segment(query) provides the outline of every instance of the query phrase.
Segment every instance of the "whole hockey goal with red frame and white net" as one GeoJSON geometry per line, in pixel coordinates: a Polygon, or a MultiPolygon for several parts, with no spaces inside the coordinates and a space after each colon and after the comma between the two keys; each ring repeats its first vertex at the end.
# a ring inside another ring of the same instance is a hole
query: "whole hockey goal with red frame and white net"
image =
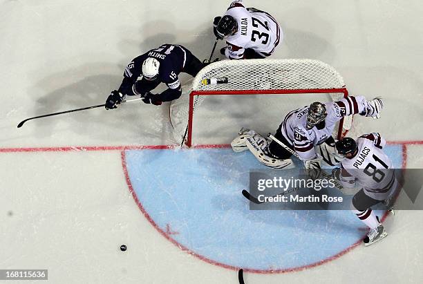
{"type": "MultiPolygon", "coordinates": [[[[318,60],[224,60],[200,70],[192,82],[189,95],[182,94],[180,99],[172,102],[170,119],[174,136],[180,141],[185,136],[187,146],[191,146],[196,131],[209,129],[211,133],[209,131],[207,135],[212,136],[229,124],[237,124],[231,116],[241,116],[244,122],[245,117],[255,117],[255,122],[276,120],[272,121],[274,132],[289,111],[312,102],[336,101],[346,96],[348,91],[341,75],[332,66],[318,60]],[[254,100],[251,100],[252,97],[254,100]],[[252,105],[256,106],[254,111],[251,111],[252,105]],[[234,115],[234,111],[238,115],[234,115]],[[203,117],[199,125],[194,124],[200,114],[207,112],[208,118],[203,117]],[[271,119],[272,113],[274,118],[271,119]],[[215,133],[211,128],[214,121],[220,123],[215,133]]],[[[334,130],[335,138],[345,135],[351,124],[352,117],[341,120],[334,130]]],[[[232,138],[233,135],[228,138],[229,141],[232,138]]]]}

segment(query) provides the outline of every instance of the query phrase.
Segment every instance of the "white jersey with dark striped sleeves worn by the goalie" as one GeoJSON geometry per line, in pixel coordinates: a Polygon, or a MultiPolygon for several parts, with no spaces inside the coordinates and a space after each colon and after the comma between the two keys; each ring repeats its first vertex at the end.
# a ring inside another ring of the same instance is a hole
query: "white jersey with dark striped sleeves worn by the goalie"
{"type": "Polygon", "coordinates": [[[309,106],[291,111],[281,124],[282,135],[294,146],[294,150],[303,160],[317,158],[314,146],[330,138],[335,125],[342,117],[357,113],[366,115],[367,101],[363,96],[350,96],[337,102],[324,104],[328,115],[325,122],[321,123],[323,125],[318,124],[310,130],[306,128],[309,106]]]}

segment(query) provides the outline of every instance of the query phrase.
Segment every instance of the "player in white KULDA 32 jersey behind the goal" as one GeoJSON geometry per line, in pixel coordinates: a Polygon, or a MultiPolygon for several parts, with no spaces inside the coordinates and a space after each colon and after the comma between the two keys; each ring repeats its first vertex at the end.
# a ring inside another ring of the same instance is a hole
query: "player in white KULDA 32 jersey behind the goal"
{"type": "Polygon", "coordinates": [[[233,1],[213,24],[216,38],[225,39],[227,44],[220,53],[229,59],[268,57],[283,38],[274,17],[256,8],[245,8],[241,0],[233,1]]]}

